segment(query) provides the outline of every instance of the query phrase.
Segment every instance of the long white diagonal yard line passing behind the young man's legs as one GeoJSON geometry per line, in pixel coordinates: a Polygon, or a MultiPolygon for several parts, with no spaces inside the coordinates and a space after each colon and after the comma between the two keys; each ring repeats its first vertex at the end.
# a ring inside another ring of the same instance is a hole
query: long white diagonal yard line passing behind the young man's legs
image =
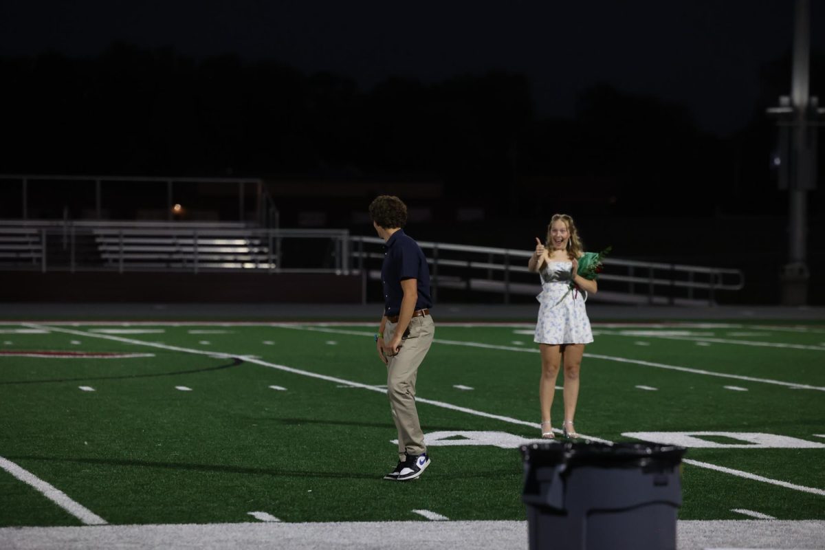
{"type": "MultiPolygon", "coordinates": [[[[34,328],[48,328],[48,327],[41,327],[41,326],[37,326],[37,325],[31,325],[31,327],[34,327],[34,328]]],[[[241,359],[241,360],[246,360],[250,363],[260,364],[262,366],[269,367],[271,369],[279,369],[279,370],[283,370],[283,371],[288,372],[288,373],[301,374],[303,376],[309,376],[310,378],[318,378],[320,380],[327,380],[328,382],[347,384],[348,386],[352,386],[353,388],[364,388],[364,389],[368,389],[368,390],[373,391],[373,392],[386,393],[386,388],[380,388],[380,387],[377,387],[377,386],[370,386],[369,384],[360,383],[360,382],[352,382],[351,380],[345,380],[343,378],[336,378],[336,377],[333,377],[333,376],[327,376],[326,374],[313,373],[313,372],[309,372],[307,370],[294,369],[292,367],[287,367],[287,366],[282,365],[282,364],[268,363],[264,360],[254,359],[252,357],[247,357],[245,355],[219,354],[219,353],[216,353],[214,351],[192,350],[192,349],[189,349],[189,348],[181,348],[181,347],[178,347],[178,346],[167,346],[166,344],[157,344],[157,343],[154,343],[154,342],[144,342],[144,341],[139,341],[139,340],[131,340],[130,338],[122,338],[120,336],[108,336],[108,335],[103,335],[103,334],[97,335],[97,334],[91,334],[91,333],[86,333],[86,332],[81,332],[81,331],[73,331],[72,329],[68,329],[68,328],[53,328],[52,330],[75,333],[75,334],[79,333],[79,334],[82,334],[84,336],[94,336],[94,337],[97,337],[97,338],[104,338],[104,339],[108,339],[108,340],[124,341],[126,343],[137,344],[139,346],[152,346],[152,347],[161,348],[163,350],[176,350],[176,351],[181,351],[181,352],[184,352],[184,353],[191,353],[191,354],[196,354],[196,355],[222,356],[222,357],[226,357],[227,359],[229,359],[229,358],[238,358],[238,359],[241,359]]],[[[356,335],[357,336],[372,336],[372,334],[368,334],[368,333],[364,333],[364,332],[356,332],[356,335]]],[[[519,350],[519,351],[525,351],[521,348],[513,348],[513,349],[519,350]]],[[[538,350],[535,350],[535,351],[536,351],[536,353],[538,352],[538,350]]],[[[585,354],[585,355],[587,355],[587,354],[585,354]]],[[[608,359],[615,359],[615,358],[608,358],[608,359]]],[[[757,380],[757,381],[760,381],[760,380],[757,380]]],[[[825,389],[825,388],[823,388],[823,389],[825,389]]],[[[518,420],[516,418],[510,418],[509,416],[500,416],[500,415],[493,415],[493,414],[490,414],[488,412],[483,412],[483,411],[474,411],[473,409],[469,409],[467,407],[458,407],[458,406],[452,405],[450,403],[432,401],[430,399],[424,399],[422,397],[416,397],[416,401],[417,402],[422,402],[422,403],[427,403],[428,405],[434,405],[436,407],[442,407],[442,408],[450,409],[451,411],[466,412],[467,414],[474,415],[474,416],[482,416],[483,418],[491,418],[493,420],[507,422],[509,424],[526,425],[526,426],[530,426],[531,428],[534,428],[534,429],[535,428],[541,429],[540,424],[536,424],[535,422],[521,421],[521,420],[518,420]]],[[[554,431],[560,431],[560,430],[554,428],[554,431]]],[[[602,440],[601,438],[590,437],[590,436],[583,435],[583,434],[582,434],[582,437],[584,437],[584,439],[587,439],[587,440],[599,441],[601,443],[609,443],[609,444],[613,443],[610,440],[602,440]]],[[[699,462],[697,460],[683,459],[682,462],[691,464],[693,466],[697,466],[699,468],[709,468],[711,470],[716,470],[718,472],[728,473],[728,474],[731,474],[733,476],[745,477],[746,479],[750,479],[750,480],[753,480],[753,481],[771,483],[773,485],[778,485],[780,487],[786,487],[786,488],[789,488],[789,489],[794,489],[796,491],[804,491],[804,492],[813,493],[814,495],[825,496],[825,491],[823,491],[822,489],[817,489],[817,488],[813,488],[813,487],[804,487],[804,486],[801,486],[801,485],[794,485],[793,483],[782,482],[782,481],[778,481],[778,480],[775,480],[775,479],[770,479],[769,477],[761,477],[761,476],[757,476],[756,474],[752,474],[752,473],[748,473],[748,472],[742,472],[741,470],[734,470],[732,468],[724,468],[724,466],[716,466],[715,464],[703,463],[703,462],[699,462]]]]}

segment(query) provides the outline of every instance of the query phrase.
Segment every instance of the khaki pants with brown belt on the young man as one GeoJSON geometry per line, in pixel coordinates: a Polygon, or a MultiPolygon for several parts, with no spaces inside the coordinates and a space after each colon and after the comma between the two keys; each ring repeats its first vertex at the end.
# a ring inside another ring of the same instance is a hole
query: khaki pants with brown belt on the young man
{"type": "MultiPolygon", "coordinates": [[[[393,339],[396,326],[395,323],[387,322],[384,341],[393,339]]],[[[398,430],[398,460],[402,462],[408,454],[415,456],[427,452],[415,407],[415,381],[418,365],[430,350],[435,333],[436,326],[432,317],[413,317],[410,319],[408,336],[401,341],[401,350],[398,355],[390,357],[387,364],[387,396],[398,430]]]]}

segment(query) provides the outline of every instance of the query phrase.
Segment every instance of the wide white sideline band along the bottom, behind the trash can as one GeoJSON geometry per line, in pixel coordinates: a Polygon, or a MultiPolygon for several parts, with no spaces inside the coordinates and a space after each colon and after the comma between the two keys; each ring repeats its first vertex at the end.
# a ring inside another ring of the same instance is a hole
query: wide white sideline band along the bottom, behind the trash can
{"type": "MultiPolygon", "coordinates": [[[[135,548],[395,548],[384,541],[403,540],[403,548],[427,550],[501,550],[527,548],[526,520],[355,522],[238,522],[217,524],[98,525],[95,527],[3,527],[7,548],[106,550],[135,548]]],[[[822,548],[823,520],[757,521],[755,519],[685,520],[676,522],[681,550],[756,550],[822,548]]]]}

